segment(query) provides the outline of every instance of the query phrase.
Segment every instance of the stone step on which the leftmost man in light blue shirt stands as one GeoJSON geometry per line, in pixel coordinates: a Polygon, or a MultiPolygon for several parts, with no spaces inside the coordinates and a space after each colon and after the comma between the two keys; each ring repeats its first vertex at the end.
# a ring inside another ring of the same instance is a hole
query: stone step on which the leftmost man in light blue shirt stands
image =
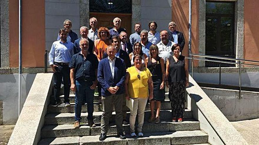
{"type": "MultiPolygon", "coordinates": [[[[75,103],[70,103],[70,106],[65,106],[65,104],[61,104],[57,107],[53,107],[52,105],[48,106],[48,113],[74,113],[75,103]]],[[[170,110],[171,104],[169,100],[165,100],[161,103],[161,110],[170,110]]],[[[114,109],[113,109],[114,110],[114,109]]],[[[147,103],[146,109],[150,110],[150,103],[147,103]]],[[[102,111],[102,104],[94,103],[94,112],[102,111]]],[[[127,111],[129,111],[129,108],[127,108],[127,111]]],[[[87,112],[87,105],[82,105],[82,111],[81,112],[87,112]]]]}

